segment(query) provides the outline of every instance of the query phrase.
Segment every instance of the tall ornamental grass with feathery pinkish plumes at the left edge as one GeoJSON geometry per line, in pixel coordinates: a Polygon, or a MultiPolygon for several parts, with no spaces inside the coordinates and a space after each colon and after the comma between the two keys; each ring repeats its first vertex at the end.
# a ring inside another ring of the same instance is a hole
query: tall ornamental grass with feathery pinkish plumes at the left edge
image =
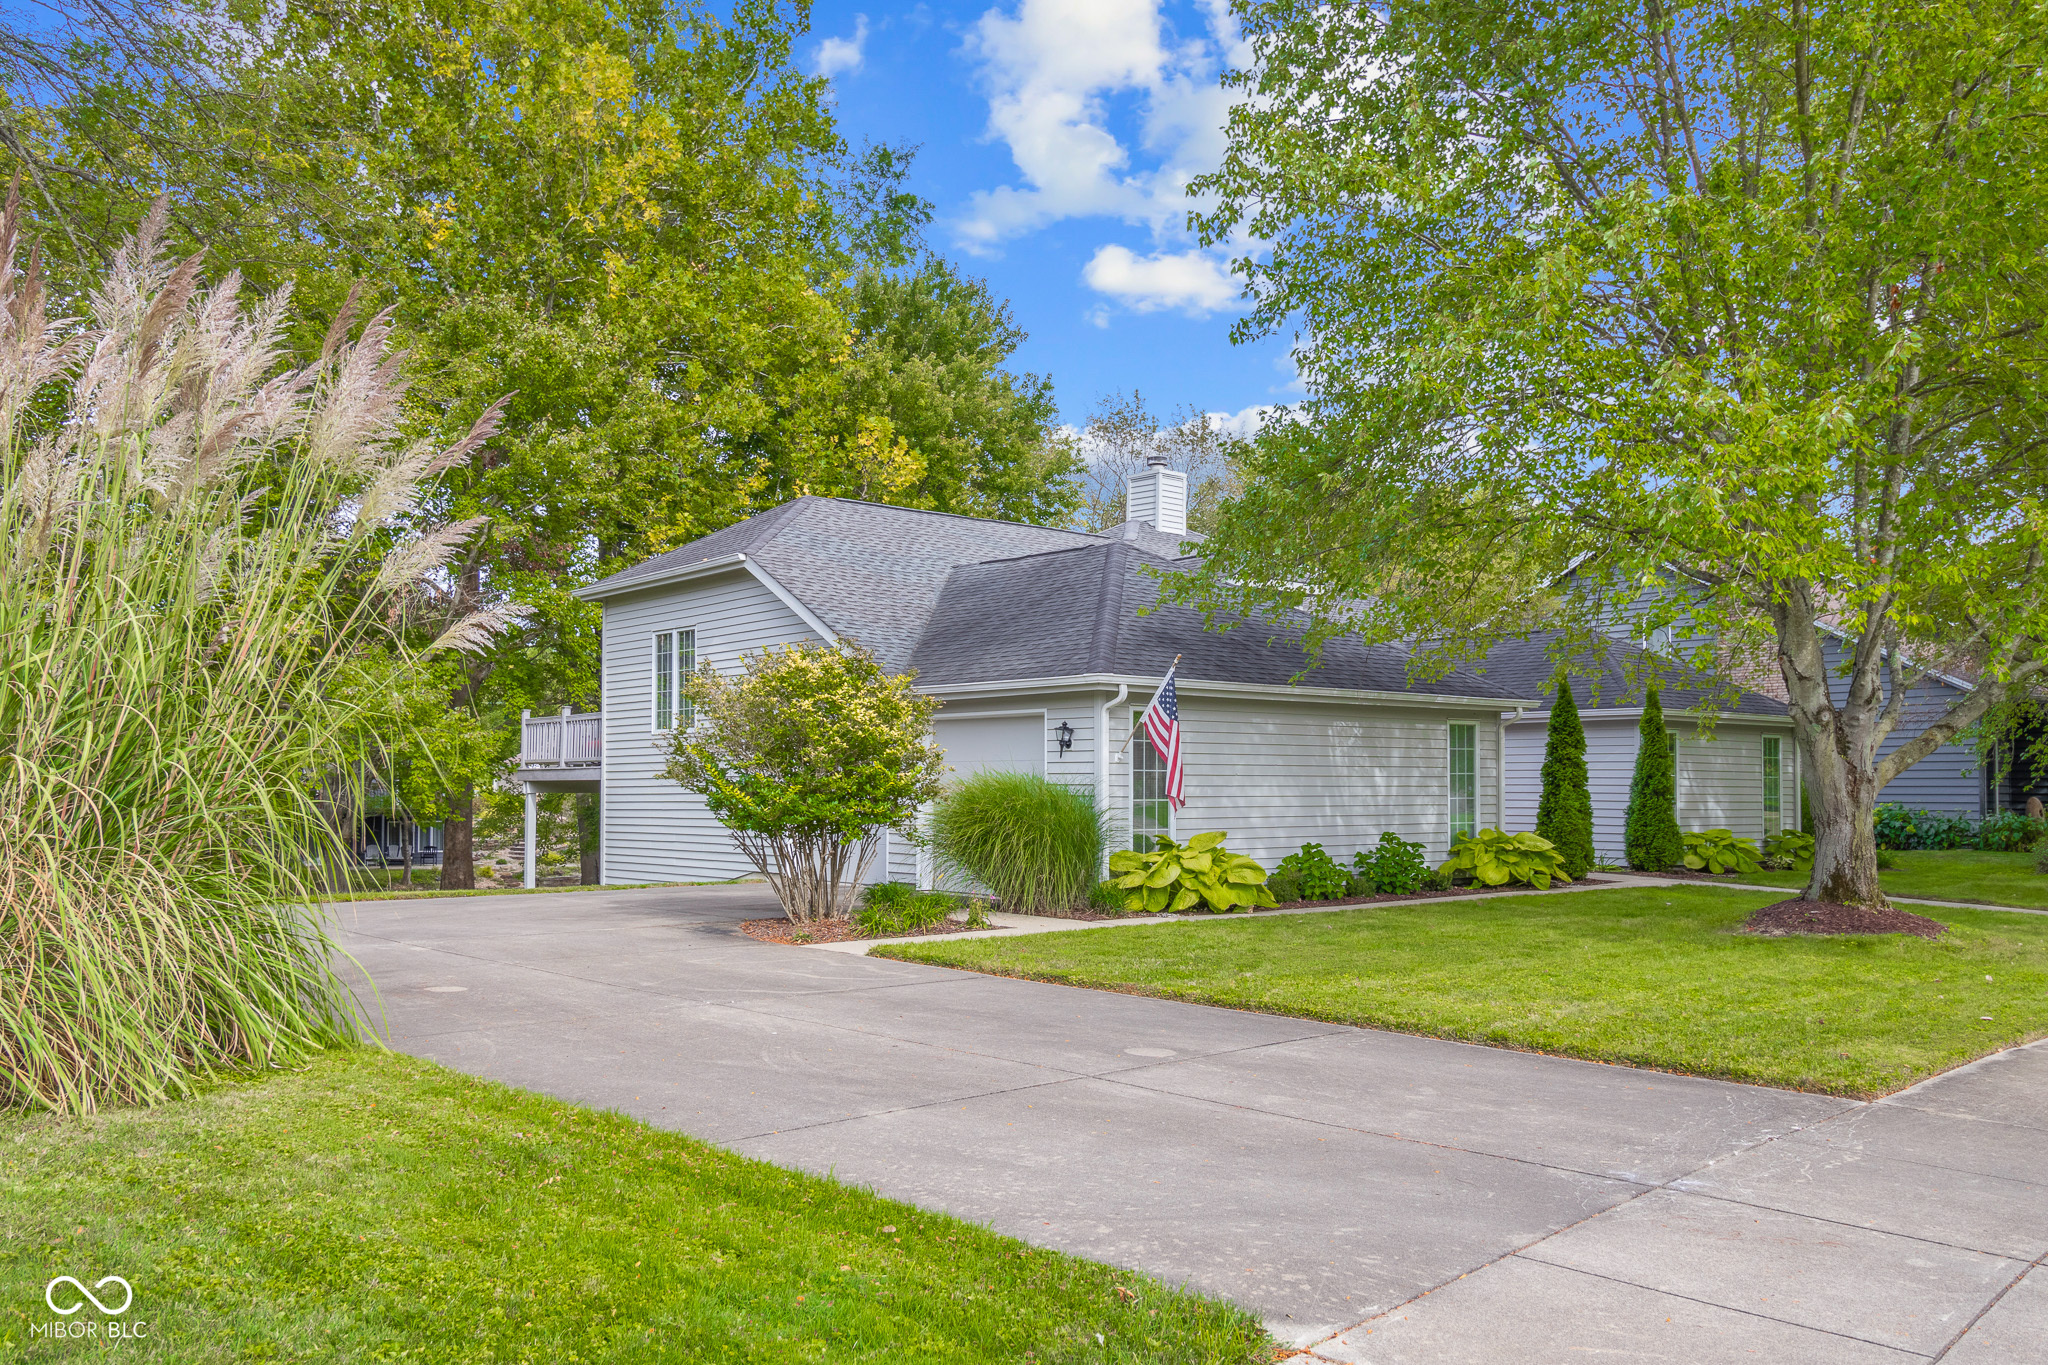
{"type": "Polygon", "coordinates": [[[442,546],[399,520],[496,420],[401,442],[383,315],[281,368],[287,301],[203,289],[162,223],[61,323],[0,217],[0,1107],[352,1033],[317,909],[367,724],[338,681],[418,663],[391,612],[442,546]]]}

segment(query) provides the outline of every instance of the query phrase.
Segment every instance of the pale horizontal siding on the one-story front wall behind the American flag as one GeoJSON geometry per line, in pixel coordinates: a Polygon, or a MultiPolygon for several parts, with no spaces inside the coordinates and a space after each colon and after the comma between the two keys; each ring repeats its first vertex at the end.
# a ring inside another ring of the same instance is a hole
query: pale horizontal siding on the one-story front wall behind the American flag
{"type": "MultiPolygon", "coordinates": [[[[1110,716],[1110,743],[1130,733],[1135,696],[1110,716]]],[[[1477,729],[1479,825],[1499,825],[1499,724],[1487,712],[1389,704],[1225,700],[1180,694],[1188,804],[1180,837],[1229,831],[1229,847],[1268,868],[1303,843],[1337,862],[1382,831],[1419,839],[1430,857],[1450,849],[1450,722],[1477,729]]],[[[1139,737],[1135,743],[1145,743],[1139,737]]],[[[1128,819],[1130,761],[1112,763],[1118,812],[1128,819]]]]}

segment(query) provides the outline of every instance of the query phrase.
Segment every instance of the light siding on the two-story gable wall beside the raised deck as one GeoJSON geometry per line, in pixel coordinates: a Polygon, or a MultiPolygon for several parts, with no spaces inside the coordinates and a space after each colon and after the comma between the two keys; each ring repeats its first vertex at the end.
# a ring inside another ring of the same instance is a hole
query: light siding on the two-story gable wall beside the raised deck
{"type": "Polygon", "coordinates": [[[735,569],[604,604],[604,831],[606,884],[709,882],[752,876],[702,798],[662,776],[666,735],[653,733],[653,632],[696,630],[696,659],[737,669],[745,653],[817,641],[817,632],[762,583],[735,569]]]}

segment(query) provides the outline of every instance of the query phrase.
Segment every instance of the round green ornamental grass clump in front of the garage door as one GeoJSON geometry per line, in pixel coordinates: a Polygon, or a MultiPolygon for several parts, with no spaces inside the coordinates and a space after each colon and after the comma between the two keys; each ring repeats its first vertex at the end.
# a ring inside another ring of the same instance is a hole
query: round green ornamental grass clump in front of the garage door
{"type": "Polygon", "coordinates": [[[932,810],[932,851],[948,876],[985,886],[1018,915],[1063,915],[1087,902],[1114,839],[1094,792],[1038,774],[979,772],[932,810]]]}

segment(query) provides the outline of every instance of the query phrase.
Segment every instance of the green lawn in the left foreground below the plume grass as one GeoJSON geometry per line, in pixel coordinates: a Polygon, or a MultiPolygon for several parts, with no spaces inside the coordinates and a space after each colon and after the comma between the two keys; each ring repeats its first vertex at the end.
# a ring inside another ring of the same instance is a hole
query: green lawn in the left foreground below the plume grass
{"type": "Polygon", "coordinates": [[[0,1117],[0,1306],[4,1359],[1272,1353],[1249,1314],[1143,1275],[375,1052],[160,1109],[0,1117]],[[121,1322],[147,1336],[31,1336],[55,1275],[125,1277],[121,1322]]]}

